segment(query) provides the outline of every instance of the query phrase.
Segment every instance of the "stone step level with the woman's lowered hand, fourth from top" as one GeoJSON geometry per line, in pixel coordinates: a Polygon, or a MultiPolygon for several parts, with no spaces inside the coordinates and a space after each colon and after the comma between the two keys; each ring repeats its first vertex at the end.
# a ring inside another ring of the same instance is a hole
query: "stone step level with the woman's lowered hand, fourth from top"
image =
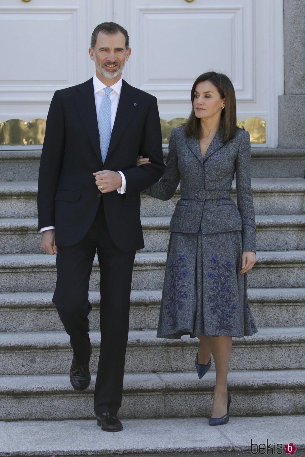
{"type": "MultiPolygon", "coordinates": [[[[134,262],[132,289],[163,287],[165,252],[139,252],[134,262]]],[[[1,292],[54,291],[56,256],[47,254],[0,255],[1,292]]],[[[90,290],[99,290],[97,258],[93,262],[90,290]]],[[[304,287],[305,251],[258,251],[257,264],[248,273],[248,287],[304,287]]]]}

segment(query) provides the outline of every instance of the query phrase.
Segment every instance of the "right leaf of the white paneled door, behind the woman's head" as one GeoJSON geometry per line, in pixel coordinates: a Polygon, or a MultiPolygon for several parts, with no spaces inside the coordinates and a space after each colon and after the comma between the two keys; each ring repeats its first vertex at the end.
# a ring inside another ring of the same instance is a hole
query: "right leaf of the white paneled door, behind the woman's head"
{"type": "Polygon", "coordinates": [[[233,82],[238,118],[264,119],[264,146],[277,145],[282,0],[113,0],[113,8],[130,35],[126,77],[157,97],[161,118],[187,117],[194,80],[215,70],[233,82]]]}

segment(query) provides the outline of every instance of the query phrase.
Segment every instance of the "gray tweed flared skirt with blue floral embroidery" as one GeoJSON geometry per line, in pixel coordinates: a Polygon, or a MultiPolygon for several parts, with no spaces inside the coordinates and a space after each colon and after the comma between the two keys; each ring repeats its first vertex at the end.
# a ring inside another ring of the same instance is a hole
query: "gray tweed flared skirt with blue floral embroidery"
{"type": "Polygon", "coordinates": [[[157,337],[251,336],[241,232],[171,233],[157,337]]]}

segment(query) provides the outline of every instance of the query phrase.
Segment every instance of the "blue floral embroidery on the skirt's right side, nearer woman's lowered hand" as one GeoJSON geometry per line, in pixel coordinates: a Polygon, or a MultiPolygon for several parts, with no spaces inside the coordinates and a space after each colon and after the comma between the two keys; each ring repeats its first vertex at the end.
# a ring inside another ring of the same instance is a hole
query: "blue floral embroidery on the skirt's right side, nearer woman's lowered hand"
{"type": "Polygon", "coordinates": [[[230,260],[220,263],[218,256],[211,259],[212,266],[209,272],[209,279],[213,281],[212,293],[209,294],[209,303],[213,303],[211,311],[217,315],[216,330],[233,330],[230,319],[233,318],[236,303],[233,303],[235,294],[231,290],[229,278],[233,271],[230,260]]]}

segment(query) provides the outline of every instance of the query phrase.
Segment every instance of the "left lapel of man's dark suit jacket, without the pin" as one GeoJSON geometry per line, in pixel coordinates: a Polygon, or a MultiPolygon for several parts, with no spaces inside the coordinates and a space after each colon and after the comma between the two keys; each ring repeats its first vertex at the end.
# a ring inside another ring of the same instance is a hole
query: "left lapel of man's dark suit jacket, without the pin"
{"type": "Polygon", "coordinates": [[[78,94],[75,94],[74,99],[77,111],[79,112],[81,121],[84,124],[94,152],[102,164],[100,135],[97,125],[92,78],[91,80],[86,81],[84,84],[79,85],[79,92],[78,94]]]}

